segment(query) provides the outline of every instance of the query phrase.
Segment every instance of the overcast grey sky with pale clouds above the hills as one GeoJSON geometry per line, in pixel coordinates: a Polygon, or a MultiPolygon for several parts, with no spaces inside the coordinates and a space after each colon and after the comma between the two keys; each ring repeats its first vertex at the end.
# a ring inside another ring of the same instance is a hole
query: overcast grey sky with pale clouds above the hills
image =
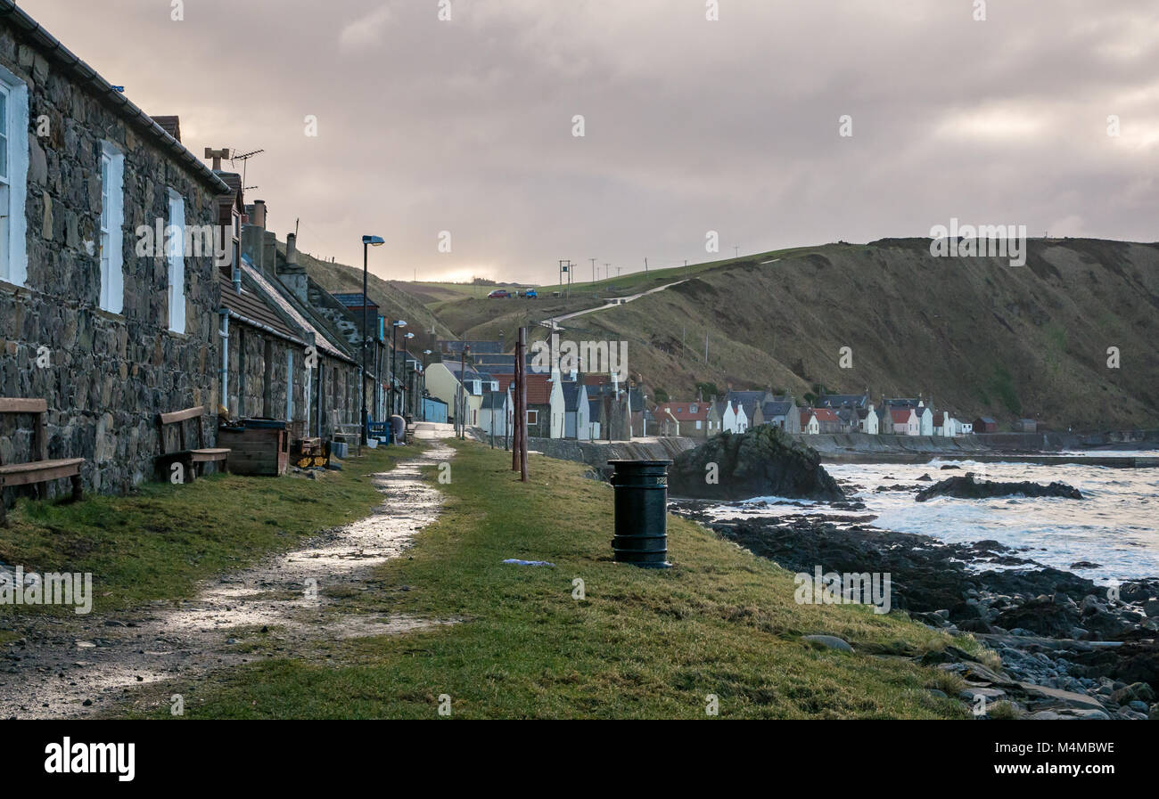
{"type": "Polygon", "coordinates": [[[176,2],[20,5],[196,154],[264,148],[247,201],[279,237],[300,217],[304,250],[360,265],[381,235],[387,278],[586,280],[714,259],[709,230],[731,257],[952,217],[1159,240],[1150,2],[176,2]]]}

